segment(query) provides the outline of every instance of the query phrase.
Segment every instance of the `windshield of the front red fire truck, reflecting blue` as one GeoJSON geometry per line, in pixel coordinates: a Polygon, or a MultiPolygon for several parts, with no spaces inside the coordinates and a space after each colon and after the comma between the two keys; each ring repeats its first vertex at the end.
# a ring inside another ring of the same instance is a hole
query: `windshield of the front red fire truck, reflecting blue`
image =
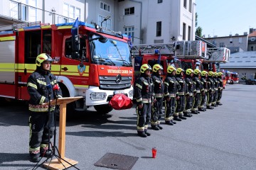
{"type": "Polygon", "coordinates": [[[98,35],[92,35],[90,47],[92,51],[92,62],[95,64],[132,66],[129,45],[126,42],[108,38],[104,42],[98,35]]]}

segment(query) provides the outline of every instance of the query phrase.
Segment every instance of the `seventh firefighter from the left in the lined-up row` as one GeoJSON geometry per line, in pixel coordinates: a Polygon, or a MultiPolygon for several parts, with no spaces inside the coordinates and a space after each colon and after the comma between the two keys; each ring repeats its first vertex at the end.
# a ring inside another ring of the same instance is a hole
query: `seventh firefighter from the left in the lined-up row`
{"type": "Polygon", "coordinates": [[[207,79],[208,77],[208,72],[206,71],[202,71],[201,72],[201,86],[202,86],[202,89],[201,89],[201,102],[199,103],[199,106],[198,106],[198,110],[199,111],[206,111],[206,108],[204,108],[203,106],[206,104],[206,96],[207,96],[207,79]]]}

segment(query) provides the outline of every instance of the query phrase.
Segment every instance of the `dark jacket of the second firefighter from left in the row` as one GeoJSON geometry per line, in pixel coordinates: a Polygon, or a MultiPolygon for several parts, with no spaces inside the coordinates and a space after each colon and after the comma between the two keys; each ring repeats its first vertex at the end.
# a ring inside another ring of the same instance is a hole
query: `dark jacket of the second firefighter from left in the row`
{"type": "Polygon", "coordinates": [[[154,84],[154,98],[164,97],[164,83],[161,76],[158,74],[152,74],[152,81],[154,84]]]}

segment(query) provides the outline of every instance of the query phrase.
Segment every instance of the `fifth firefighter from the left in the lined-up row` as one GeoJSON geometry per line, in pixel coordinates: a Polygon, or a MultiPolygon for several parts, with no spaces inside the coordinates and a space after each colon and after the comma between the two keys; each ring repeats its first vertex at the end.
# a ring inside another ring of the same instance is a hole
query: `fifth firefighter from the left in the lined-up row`
{"type": "MultiPolygon", "coordinates": [[[[186,111],[191,111],[192,109],[192,102],[193,102],[193,95],[194,95],[194,86],[193,86],[193,69],[186,69],[186,86],[188,89],[188,94],[186,94],[186,111]]],[[[192,112],[191,112],[192,113],[192,112]]],[[[197,112],[194,112],[197,114],[197,112]]]]}

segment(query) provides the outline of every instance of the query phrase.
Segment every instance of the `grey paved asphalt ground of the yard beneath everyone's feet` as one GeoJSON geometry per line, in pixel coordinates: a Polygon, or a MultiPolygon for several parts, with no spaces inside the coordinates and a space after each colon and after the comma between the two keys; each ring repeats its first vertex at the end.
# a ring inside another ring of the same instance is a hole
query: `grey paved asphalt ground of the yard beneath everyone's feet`
{"type": "MultiPolygon", "coordinates": [[[[137,137],[134,108],[108,115],[90,109],[67,122],[65,157],[78,161],[78,169],[106,169],[94,166],[106,153],[139,157],[134,170],[256,169],[255,95],[256,86],[228,84],[223,106],[163,125],[164,130],[149,130],[146,138],[137,137]],[[151,158],[152,147],[156,159],[151,158]]],[[[0,169],[33,169],[26,105],[0,106],[0,136],[0,169]]]]}

